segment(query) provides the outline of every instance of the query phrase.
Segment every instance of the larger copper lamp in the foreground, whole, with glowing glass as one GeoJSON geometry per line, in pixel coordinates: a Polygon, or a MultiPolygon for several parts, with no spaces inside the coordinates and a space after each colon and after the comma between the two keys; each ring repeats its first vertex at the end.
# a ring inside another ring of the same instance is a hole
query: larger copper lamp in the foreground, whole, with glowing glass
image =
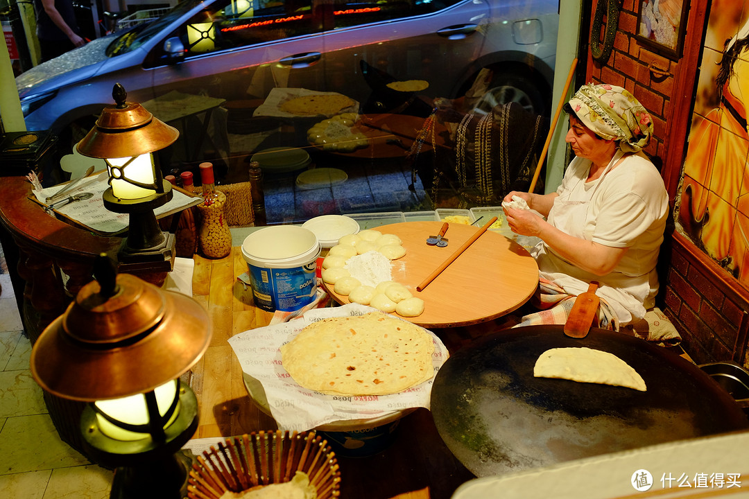
{"type": "Polygon", "coordinates": [[[106,255],[40,335],[31,373],[51,394],[88,402],[81,431],[87,455],[115,468],[111,498],[180,498],[189,459],[179,450],[198,426],[195,394],[179,377],[210,343],[205,310],[115,271],[106,255]]]}

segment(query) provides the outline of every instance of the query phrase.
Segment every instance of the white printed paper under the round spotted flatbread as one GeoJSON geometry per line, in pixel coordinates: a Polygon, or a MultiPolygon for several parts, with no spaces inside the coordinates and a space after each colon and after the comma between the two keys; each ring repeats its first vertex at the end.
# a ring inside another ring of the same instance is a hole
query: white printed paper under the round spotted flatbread
{"type": "MultiPolygon", "coordinates": [[[[291,322],[251,329],[228,340],[243,372],[263,386],[270,413],[280,429],[303,432],[334,421],[371,419],[407,408],[429,408],[434,379],[399,394],[333,396],[302,388],[281,365],[281,346],[291,341],[306,325],[328,317],[356,316],[369,312],[382,313],[357,303],[317,308],[291,322]]],[[[432,365],[434,373],[437,373],[449,354],[440,338],[431,331],[425,331],[434,340],[432,365]]]]}

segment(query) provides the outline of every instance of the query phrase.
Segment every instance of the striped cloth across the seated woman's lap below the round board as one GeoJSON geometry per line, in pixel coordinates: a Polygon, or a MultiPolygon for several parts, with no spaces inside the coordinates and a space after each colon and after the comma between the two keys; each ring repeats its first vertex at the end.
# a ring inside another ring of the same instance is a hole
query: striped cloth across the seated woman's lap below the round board
{"type": "MultiPolygon", "coordinates": [[[[576,298],[576,295],[566,293],[553,281],[540,278],[539,287],[531,299],[531,304],[539,311],[522,316],[520,322],[512,327],[564,324],[567,322],[567,317],[576,298]]],[[[619,331],[619,319],[616,318],[616,314],[603,299],[601,299],[601,304],[598,305],[598,325],[596,327],[619,331]]]]}

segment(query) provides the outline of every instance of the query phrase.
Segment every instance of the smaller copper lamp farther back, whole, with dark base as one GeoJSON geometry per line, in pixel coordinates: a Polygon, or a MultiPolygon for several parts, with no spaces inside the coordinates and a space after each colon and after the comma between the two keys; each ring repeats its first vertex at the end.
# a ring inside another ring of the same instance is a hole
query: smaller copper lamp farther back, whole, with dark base
{"type": "Polygon", "coordinates": [[[111,186],[104,192],[104,206],[130,214],[118,260],[126,264],[168,261],[171,269],[175,236],[160,229],[154,208],[172,199],[172,184],[163,179],[152,153],[173,144],[179,132],[142,105],[127,102],[127,93],[119,83],[112,89],[112,98],[115,105],[103,109],[76,150],[83,156],[104,159],[111,186]]]}

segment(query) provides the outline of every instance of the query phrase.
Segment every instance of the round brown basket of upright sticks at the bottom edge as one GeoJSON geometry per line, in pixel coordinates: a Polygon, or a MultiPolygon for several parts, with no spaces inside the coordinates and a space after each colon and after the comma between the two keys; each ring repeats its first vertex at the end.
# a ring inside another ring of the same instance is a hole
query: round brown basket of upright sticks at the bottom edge
{"type": "Polygon", "coordinates": [[[219,442],[192,465],[187,497],[219,499],[224,492],[285,483],[304,471],[318,499],[340,497],[341,474],[336,454],[315,431],[253,432],[219,442]]]}

